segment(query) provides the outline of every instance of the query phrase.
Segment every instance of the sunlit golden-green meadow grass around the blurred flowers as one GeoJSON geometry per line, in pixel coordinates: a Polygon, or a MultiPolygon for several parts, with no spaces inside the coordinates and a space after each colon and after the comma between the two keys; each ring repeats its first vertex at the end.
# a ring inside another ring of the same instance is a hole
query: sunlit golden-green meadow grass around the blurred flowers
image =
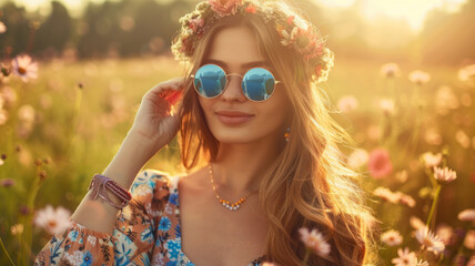
{"type": "MultiPolygon", "coordinates": [[[[400,65],[400,75],[387,79],[380,73],[383,63],[337,59],[329,81],[321,88],[329,96],[332,115],[350,132],[360,147],[371,151],[383,146],[390,151],[394,165],[390,177],[372,178],[367,168],[363,167],[361,184],[368,192],[377,186],[387,186],[416,198],[417,204],[413,208],[387,202],[368,203],[384,223],[384,229],[400,229],[405,233],[405,243],[411,243],[407,217],[415,215],[426,219],[433,202],[423,190],[425,187],[425,192],[431,192],[433,187],[420,164],[422,153],[448,149],[446,163],[457,171],[456,182],[442,192],[437,223],[457,226],[461,223],[456,214],[474,207],[475,187],[471,181],[475,173],[473,104],[458,106],[446,115],[434,113],[437,108],[434,105],[436,92],[441,86],[453,88],[457,99],[464,93],[474,99],[474,88],[456,79],[456,68],[423,69],[431,73],[431,81],[417,86],[407,79],[415,66],[400,65]],[[415,91],[418,93],[417,101],[422,101],[424,106],[422,109],[408,104],[415,91]],[[336,103],[344,95],[357,99],[356,110],[338,112],[336,103]],[[396,106],[400,108],[397,115],[388,116],[381,111],[377,101],[382,98],[401,101],[397,102],[401,105],[396,106]],[[415,134],[416,142],[410,147],[402,145],[408,143],[415,121],[418,121],[420,127],[415,134]],[[380,126],[383,133],[386,127],[393,132],[394,129],[400,131],[390,142],[385,141],[384,135],[381,140],[370,140],[367,129],[372,125],[380,126]],[[438,130],[441,144],[424,142],[424,131],[428,127],[438,130]],[[461,130],[472,137],[468,147],[461,146],[455,137],[461,130]],[[403,170],[408,171],[410,177],[402,184],[394,176],[403,170]]],[[[31,227],[34,209],[51,204],[73,212],[84,196],[91,176],[102,172],[119,150],[132,125],[142,95],[159,82],[182,75],[182,68],[168,57],[78,62],[54,60],[40,62],[38,80],[24,83],[12,76],[7,84],[2,84],[16,91],[17,102],[8,109],[7,123],[0,125],[0,153],[7,155],[4,164],[0,166],[0,180],[14,181],[12,186],[0,186],[0,236],[18,265],[29,264],[17,259],[18,250],[24,249],[22,245],[26,244],[21,243],[31,242],[32,258],[51,237],[43,229],[31,227]],[[22,127],[23,122],[17,115],[26,104],[34,110],[34,122],[30,130],[26,130],[24,125],[22,127]],[[38,194],[34,196],[34,193],[38,194]],[[13,234],[11,227],[19,223],[26,223],[24,231],[13,234]]],[[[351,152],[350,149],[344,150],[351,152]]],[[[176,174],[183,171],[178,166],[179,161],[175,139],[144,167],[176,174]]],[[[416,247],[414,243],[407,245],[416,247]]],[[[396,256],[395,253],[395,247],[382,247],[382,259],[388,263],[391,257],[396,256]]],[[[23,253],[20,256],[26,255],[23,253]]],[[[7,257],[0,257],[0,264],[8,265],[7,257]]]]}

